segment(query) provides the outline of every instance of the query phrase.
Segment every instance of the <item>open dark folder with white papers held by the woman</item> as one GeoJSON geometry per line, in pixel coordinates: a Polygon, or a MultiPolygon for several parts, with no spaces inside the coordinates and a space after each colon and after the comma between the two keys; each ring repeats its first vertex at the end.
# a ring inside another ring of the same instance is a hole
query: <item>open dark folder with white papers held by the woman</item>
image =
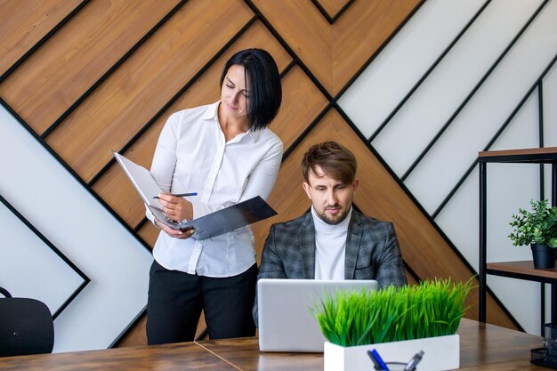
{"type": "Polygon", "coordinates": [[[140,195],[149,210],[158,222],[173,228],[174,230],[195,229],[192,238],[206,239],[219,236],[222,233],[238,230],[248,224],[262,221],[277,214],[261,197],[247,199],[236,205],[223,208],[211,214],[206,214],[190,222],[174,222],[168,220],[162,212],[162,206],[157,198],[153,198],[162,192],[157,181],[145,167],[135,164],[133,161],[114,152],[117,163],[124,170],[125,175],[132,181],[133,188],[140,195]]]}

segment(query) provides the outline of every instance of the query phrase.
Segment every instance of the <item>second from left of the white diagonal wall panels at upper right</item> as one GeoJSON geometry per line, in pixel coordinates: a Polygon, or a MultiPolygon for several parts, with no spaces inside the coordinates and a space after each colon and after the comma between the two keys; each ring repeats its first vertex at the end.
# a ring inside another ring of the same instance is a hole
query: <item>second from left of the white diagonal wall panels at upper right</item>
{"type": "Polygon", "coordinates": [[[537,1],[495,1],[447,54],[372,145],[401,176],[420,156],[488,72],[529,17],[537,1]],[[413,135],[407,133],[411,131],[413,135]],[[397,147],[404,151],[393,150],[397,147]]]}

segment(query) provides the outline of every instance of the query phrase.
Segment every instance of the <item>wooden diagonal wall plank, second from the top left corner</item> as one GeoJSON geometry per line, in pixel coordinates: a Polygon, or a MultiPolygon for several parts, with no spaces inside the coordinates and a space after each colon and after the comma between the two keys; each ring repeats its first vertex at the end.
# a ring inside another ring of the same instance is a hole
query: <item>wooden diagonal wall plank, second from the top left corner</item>
{"type": "Polygon", "coordinates": [[[177,3],[87,4],[6,79],[0,94],[43,133],[177,3]]]}

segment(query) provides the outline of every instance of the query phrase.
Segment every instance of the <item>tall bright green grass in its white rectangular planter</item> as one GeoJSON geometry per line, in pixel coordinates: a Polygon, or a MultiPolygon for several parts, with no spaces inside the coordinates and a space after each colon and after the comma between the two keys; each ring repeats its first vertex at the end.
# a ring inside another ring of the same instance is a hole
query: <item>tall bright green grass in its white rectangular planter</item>
{"type": "MultiPolygon", "coordinates": [[[[450,279],[415,286],[389,286],[377,291],[344,291],[325,296],[316,308],[325,335],[325,371],[373,369],[367,351],[375,349],[389,363],[420,354],[419,369],[458,368],[460,341],[456,330],[464,299],[472,289],[450,279]]],[[[396,362],[395,362],[396,361],[396,362]]]]}

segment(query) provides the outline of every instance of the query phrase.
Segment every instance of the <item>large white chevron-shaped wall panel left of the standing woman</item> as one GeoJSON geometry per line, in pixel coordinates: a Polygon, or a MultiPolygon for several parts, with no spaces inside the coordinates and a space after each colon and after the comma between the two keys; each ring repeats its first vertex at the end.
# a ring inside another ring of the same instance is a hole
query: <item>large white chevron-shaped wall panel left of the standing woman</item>
{"type": "Polygon", "coordinates": [[[91,282],[54,321],[54,351],[108,347],[144,309],[151,254],[4,108],[0,193],[91,282]]]}

